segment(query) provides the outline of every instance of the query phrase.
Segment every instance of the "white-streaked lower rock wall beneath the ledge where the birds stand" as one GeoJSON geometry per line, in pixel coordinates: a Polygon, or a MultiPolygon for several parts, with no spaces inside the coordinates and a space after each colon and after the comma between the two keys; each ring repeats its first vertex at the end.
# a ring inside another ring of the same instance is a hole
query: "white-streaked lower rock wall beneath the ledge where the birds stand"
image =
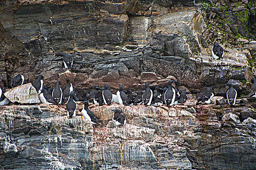
{"type": "MultiPolygon", "coordinates": [[[[83,105],[77,104],[81,109],[83,105]]],[[[80,116],[68,119],[65,106],[0,109],[0,165],[6,170],[254,170],[256,166],[255,112],[246,106],[91,105],[98,125],[80,116]],[[123,111],[126,125],[113,123],[112,109],[123,111]],[[233,114],[238,110],[251,116],[241,123],[240,115],[233,114]],[[224,119],[226,115],[231,119],[224,119]]]]}

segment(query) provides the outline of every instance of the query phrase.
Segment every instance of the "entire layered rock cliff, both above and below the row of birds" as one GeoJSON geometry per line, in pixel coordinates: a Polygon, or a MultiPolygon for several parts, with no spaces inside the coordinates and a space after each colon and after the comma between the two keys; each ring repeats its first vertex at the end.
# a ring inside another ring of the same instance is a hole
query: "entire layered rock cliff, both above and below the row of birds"
{"type": "MultiPolygon", "coordinates": [[[[249,3],[227,4],[238,13],[249,3]]],[[[92,85],[107,83],[116,92],[120,84],[139,90],[145,82],[164,87],[174,78],[190,100],[172,107],[93,104],[98,125],[80,116],[67,119],[65,105],[0,106],[0,169],[255,170],[256,101],[242,98],[231,107],[223,100],[223,84],[230,81],[238,97],[246,95],[256,72],[256,43],[244,39],[256,36],[255,3],[247,27],[231,23],[232,31],[237,26],[246,36],[237,37],[239,46],[212,31],[210,20],[221,8],[205,10],[205,5],[201,0],[1,0],[1,88],[11,88],[20,73],[27,86],[43,75],[46,88],[57,80],[64,88],[69,78],[82,95],[92,85]],[[211,56],[215,41],[225,51],[221,60],[211,56]],[[70,72],[61,59],[54,60],[56,52],[74,57],[70,72]],[[195,105],[203,86],[213,86],[214,104],[195,105]],[[121,109],[127,124],[116,127],[112,109],[121,109]]],[[[12,101],[20,102],[20,96],[12,101]]],[[[38,103],[34,97],[32,103],[38,103]]]]}

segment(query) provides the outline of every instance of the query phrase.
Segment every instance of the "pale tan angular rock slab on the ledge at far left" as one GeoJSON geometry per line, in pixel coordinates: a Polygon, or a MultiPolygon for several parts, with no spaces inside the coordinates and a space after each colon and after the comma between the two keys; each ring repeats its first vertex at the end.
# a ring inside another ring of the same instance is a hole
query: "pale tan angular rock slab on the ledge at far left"
{"type": "Polygon", "coordinates": [[[21,104],[40,103],[36,88],[31,84],[20,85],[4,93],[11,102],[19,102],[21,104]]]}

